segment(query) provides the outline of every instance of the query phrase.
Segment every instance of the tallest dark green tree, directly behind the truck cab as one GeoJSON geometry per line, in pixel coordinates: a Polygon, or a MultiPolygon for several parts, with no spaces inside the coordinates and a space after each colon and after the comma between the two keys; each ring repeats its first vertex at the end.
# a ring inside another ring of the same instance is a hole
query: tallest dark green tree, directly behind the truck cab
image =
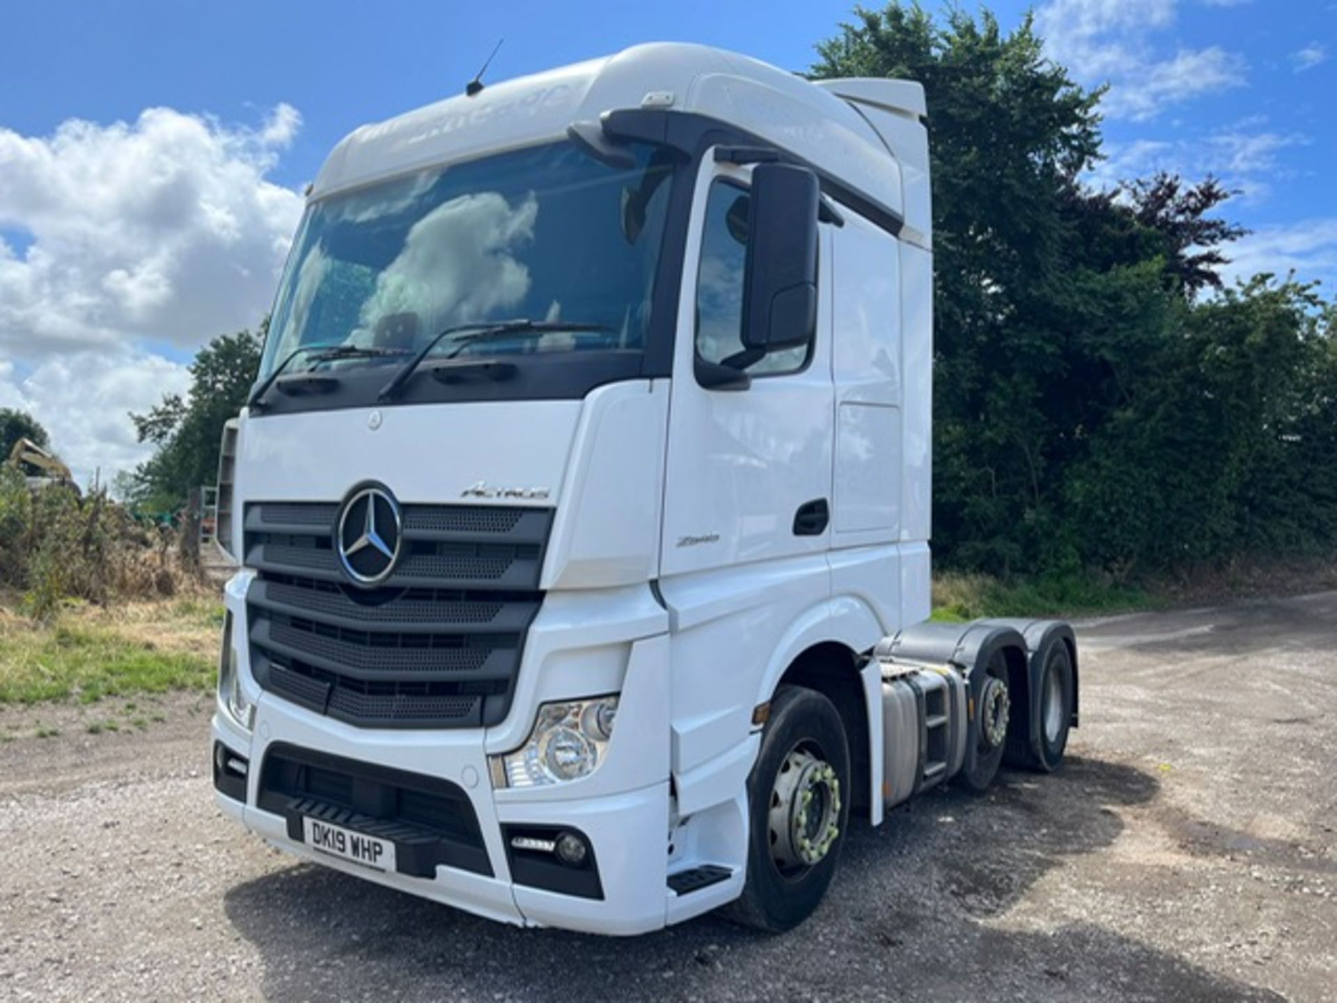
{"type": "MultiPolygon", "coordinates": [[[[1031,17],[860,9],[820,78],[901,76],[928,100],[935,247],[935,539],[964,564],[1034,563],[1052,539],[1047,411],[1074,348],[1067,206],[1099,152],[1100,91],[1046,60],[1031,17]],[[949,388],[949,389],[948,389],[949,388]]],[[[1070,445],[1070,444],[1068,444],[1070,445]]]]}

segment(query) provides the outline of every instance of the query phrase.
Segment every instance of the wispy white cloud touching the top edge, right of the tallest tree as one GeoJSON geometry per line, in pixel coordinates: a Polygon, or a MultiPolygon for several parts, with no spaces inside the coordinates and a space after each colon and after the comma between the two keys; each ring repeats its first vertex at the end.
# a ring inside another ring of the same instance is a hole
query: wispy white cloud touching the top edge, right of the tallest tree
{"type": "Polygon", "coordinates": [[[1245,83],[1245,60],[1219,45],[1167,51],[1178,0],[1048,0],[1036,11],[1046,52],[1088,86],[1110,84],[1108,118],[1144,122],[1171,104],[1245,83]]]}

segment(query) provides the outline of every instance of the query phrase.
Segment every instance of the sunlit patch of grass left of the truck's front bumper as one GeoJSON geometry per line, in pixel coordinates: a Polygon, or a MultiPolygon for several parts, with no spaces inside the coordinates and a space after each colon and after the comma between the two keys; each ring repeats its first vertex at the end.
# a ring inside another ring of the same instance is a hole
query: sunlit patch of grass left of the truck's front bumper
{"type": "Polygon", "coordinates": [[[207,690],[222,621],[219,603],[199,599],[71,606],[45,623],[0,604],[0,703],[207,690]]]}

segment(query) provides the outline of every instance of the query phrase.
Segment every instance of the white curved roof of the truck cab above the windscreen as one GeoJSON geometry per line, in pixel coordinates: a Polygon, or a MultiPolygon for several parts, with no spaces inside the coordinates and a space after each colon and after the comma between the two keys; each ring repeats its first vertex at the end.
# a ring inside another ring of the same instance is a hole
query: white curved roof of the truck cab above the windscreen
{"type": "Polygon", "coordinates": [[[900,163],[856,104],[866,100],[893,106],[917,124],[923,90],[892,80],[840,83],[844,91],[857,94],[837,94],[707,45],[635,45],[362,126],[330,152],[310,197],[324,198],[414,170],[556,140],[572,122],[648,106],[698,112],[738,126],[904,213],[900,163]]]}

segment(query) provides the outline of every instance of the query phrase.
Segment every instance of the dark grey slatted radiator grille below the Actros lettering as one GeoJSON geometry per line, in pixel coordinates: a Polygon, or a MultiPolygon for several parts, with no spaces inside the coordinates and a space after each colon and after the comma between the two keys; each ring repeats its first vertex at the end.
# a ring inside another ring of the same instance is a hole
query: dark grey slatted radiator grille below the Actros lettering
{"type": "Polygon", "coordinates": [[[550,510],[405,506],[376,588],[344,578],[338,504],[246,507],[251,666],[283,699],[360,726],[477,728],[511,705],[539,611],[550,510]]]}

